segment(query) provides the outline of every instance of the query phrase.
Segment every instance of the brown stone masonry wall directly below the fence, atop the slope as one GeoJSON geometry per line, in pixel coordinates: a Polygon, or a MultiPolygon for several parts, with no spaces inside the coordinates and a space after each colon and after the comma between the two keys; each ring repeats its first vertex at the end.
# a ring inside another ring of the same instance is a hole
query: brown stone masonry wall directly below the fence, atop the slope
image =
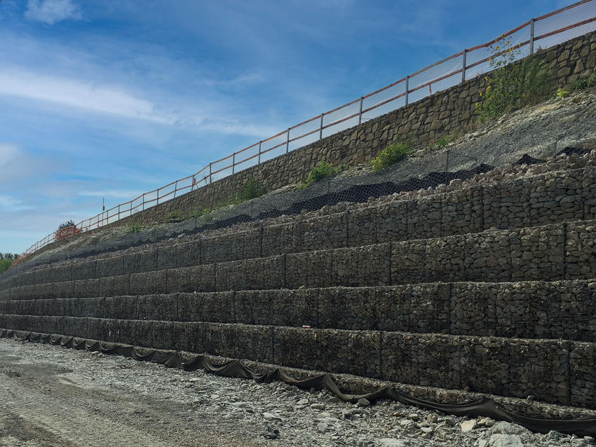
{"type": "MultiPolygon", "coordinates": [[[[536,58],[553,67],[564,86],[587,78],[596,67],[596,32],[536,53],[536,58]]],[[[304,179],[320,160],[334,165],[366,163],[381,149],[400,139],[412,144],[428,144],[442,136],[461,133],[478,123],[475,103],[485,88],[482,76],[448,90],[437,92],[388,114],[349,128],[284,156],[233,174],[120,221],[147,224],[168,212],[212,208],[236,196],[248,179],[272,191],[304,179]]]]}

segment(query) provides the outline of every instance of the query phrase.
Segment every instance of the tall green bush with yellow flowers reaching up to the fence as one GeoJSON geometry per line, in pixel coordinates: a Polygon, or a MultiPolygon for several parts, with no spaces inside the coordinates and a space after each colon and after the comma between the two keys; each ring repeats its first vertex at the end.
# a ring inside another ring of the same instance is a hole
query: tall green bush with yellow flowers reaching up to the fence
{"type": "Polygon", "coordinates": [[[485,76],[486,87],[480,91],[476,112],[480,122],[499,118],[503,114],[537,104],[555,92],[555,76],[552,69],[536,57],[526,57],[513,63],[520,55],[520,46],[513,46],[504,34],[490,46],[489,59],[494,70],[485,76]]]}

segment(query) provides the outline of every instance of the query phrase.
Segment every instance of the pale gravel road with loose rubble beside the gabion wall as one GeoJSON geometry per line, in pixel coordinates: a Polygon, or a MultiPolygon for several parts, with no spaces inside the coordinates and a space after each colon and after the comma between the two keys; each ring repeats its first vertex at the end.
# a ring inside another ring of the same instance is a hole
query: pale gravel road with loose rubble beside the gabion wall
{"type": "Polygon", "coordinates": [[[0,447],[593,445],[489,418],[0,338],[0,447]]]}

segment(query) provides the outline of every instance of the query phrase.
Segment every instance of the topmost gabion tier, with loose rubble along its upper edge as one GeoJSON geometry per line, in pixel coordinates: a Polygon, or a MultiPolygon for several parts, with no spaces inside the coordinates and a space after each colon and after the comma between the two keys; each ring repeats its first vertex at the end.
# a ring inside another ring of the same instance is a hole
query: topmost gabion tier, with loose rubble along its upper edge
{"type": "MultiPolygon", "coordinates": [[[[191,241],[186,238],[182,243],[166,241],[88,256],[84,260],[52,262],[50,257],[46,259],[48,265],[28,269],[25,266],[22,273],[9,270],[0,280],[0,290],[48,282],[50,275],[55,282],[80,280],[316,249],[478,233],[489,228],[596,219],[595,179],[596,169],[588,165],[503,179],[495,184],[461,186],[454,182],[449,186],[450,191],[422,198],[384,198],[373,205],[338,205],[321,216],[308,214],[292,216],[281,223],[280,219],[274,219],[243,224],[239,228],[193,235],[191,241]]],[[[579,253],[578,247],[572,251],[579,253]]],[[[55,257],[61,259],[62,254],[55,257]]],[[[573,271],[576,267],[569,268],[573,271]]]]}

